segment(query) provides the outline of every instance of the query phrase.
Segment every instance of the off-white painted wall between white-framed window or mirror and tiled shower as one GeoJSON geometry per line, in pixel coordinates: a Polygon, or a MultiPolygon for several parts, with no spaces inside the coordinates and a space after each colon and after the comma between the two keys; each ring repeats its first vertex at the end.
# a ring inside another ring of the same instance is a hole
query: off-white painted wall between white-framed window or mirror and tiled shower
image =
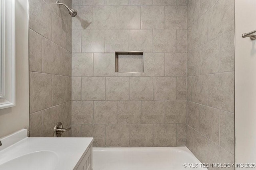
{"type": "Polygon", "coordinates": [[[0,109],[0,137],[28,129],[28,0],[16,0],[16,106],[0,109]]]}

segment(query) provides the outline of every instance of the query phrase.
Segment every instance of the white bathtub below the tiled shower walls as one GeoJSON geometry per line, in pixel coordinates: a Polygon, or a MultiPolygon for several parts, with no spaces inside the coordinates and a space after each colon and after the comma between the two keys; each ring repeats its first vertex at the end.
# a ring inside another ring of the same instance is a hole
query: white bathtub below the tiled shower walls
{"type": "Polygon", "coordinates": [[[187,147],[93,148],[92,156],[93,170],[207,170],[187,147]]]}

